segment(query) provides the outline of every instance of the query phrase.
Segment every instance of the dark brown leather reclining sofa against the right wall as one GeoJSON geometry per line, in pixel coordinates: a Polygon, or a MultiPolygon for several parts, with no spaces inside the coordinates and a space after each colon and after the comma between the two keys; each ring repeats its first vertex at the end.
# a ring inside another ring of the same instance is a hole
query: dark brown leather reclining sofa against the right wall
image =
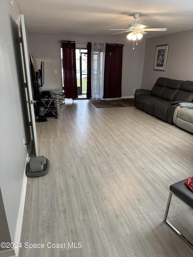
{"type": "Polygon", "coordinates": [[[135,90],[135,106],[169,124],[180,102],[193,102],[193,81],[160,77],[152,90],[135,90]]]}

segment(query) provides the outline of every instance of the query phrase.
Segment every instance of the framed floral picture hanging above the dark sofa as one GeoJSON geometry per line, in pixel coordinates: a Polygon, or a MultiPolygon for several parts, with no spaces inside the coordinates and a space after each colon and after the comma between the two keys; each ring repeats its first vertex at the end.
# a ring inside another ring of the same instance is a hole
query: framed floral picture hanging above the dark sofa
{"type": "Polygon", "coordinates": [[[156,45],[156,54],[154,61],[154,71],[165,71],[166,70],[166,61],[168,55],[168,47],[167,45],[156,45]]]}

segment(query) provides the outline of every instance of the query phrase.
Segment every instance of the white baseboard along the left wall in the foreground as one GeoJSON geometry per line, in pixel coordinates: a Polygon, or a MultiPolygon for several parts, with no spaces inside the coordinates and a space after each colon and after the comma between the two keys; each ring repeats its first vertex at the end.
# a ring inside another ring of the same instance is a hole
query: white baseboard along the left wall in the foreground
{"type": "MultiPolygon", "coordinates": [[[[20,206],[19,206],[19,212],[18,212],[18,217],[17,217],[17,225],[16,225],[16,230],[15,230],[15,239],[14,242],[18,243],[20,242],[21,238],[21,229],[22,229],[22,222],[23,222],[23,216],[24,216],[24,205],[25,205],[25,195],[26,195],[26,187],[27,187],[27,174],[26,174],[26,166],[27,163],[29,162],[28,156],[26,159],[26,164],[25,164],[25,171],[24,171],[24,178],[23,178],[23,185],[22,185],[22,190],[21,190],[21,199],[20,199],[20,206]]],[[[19,255],[19,247],[14,249],[15,255],[13,256],[18,256],[19,255]]],[[[6,255],[8,256],[8,255],[6,255]]],[[[1,255],[0,255],[1,257],[1,255]]]]}

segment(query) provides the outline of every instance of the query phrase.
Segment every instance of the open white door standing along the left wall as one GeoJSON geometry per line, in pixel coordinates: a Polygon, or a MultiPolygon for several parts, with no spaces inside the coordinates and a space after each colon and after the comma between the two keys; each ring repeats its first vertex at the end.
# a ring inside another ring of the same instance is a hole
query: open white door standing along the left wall
{"type": "Polygon", "coordinates": [[[34,102],[33,102],[33,95],[32,95],[32,85],[31,85],[31,78],[30,78],[30,66],[29,66],[29,58],[28,58],[28,51],[27,51],[27,39],[25,33],[25,23],[24,23],[24,15],[20,15],[20,26],[19,26],[19,35],[21,37],[21,60],[23,66],[23,74],[24,74],[24,83],[26,83],[26,100],[27,100],[27,110],[28,110],[28,118],[32,132],[32,143],[35,149],[35,154],[38,156],[38,145],[37,145],[37,134],[36,134],[36,120],[35,120],[35,113],[34,113],[34,102]]]}

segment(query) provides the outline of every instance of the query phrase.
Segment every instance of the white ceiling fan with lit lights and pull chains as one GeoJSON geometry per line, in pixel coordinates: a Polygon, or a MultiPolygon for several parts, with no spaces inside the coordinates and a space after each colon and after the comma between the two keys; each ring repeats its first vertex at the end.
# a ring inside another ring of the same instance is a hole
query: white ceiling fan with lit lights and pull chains
{"type": "MultiPolygon", "coordinates": [[[[139,17],[138,13],[134,13],[133,17],[135,19],[135,22],[132,24],[129,24],[129,28],[128,29],[110,29],[110,30],[125,30],[122,32],[117,32],[117,33],[113,33],[113,34],[119,34],[119,33],[124,33],[124,32],[130,32],[127,35],[127,38],[129,40],[139,40],[143,37],[143,34],[146,34],[146,31],[166,31],[166,28],[158,28],[158,29],[147,29],[148,26],[142,25],[141,23],[137,23],[137,18],[139,17]],[[141,34],[140,32],[143,31],[143,34],[141,34]]],[[[136,42],[136,45],[138,44],[138,42],[136,42]]],[[[133,49],[134,49],[134,42],[133,42],[133,49]]]]}

